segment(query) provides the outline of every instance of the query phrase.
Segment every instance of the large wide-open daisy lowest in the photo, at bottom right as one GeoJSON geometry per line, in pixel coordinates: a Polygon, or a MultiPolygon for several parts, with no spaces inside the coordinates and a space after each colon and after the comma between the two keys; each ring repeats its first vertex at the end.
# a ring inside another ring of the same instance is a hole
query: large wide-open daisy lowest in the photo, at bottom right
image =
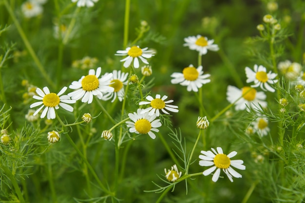
{"type": "Polygon", "coordinates": [[[245,170],[246,166],[244,166],[243,160],[230,160],[230,158],[234,157],[237,152],[232,151],[228,155],[224,154],[222,148],[218,147],[217,152],[215,149],[211,148],[212,151],[201,151],[201,155],[199,155],[199,158],[201,159],[199,161],[200,166],[212,166],[209,169],[203,171],[203,175],[207,176],[210,175],[216,168],[215,173],[213,174],[212,181],[216,182],[220,175],[220,169],[222,169],[226,175],[228,176],[229,180],[233,182],[232,176],[235,178],[241,178],[242,175],[236,172],[231,166],[240,169],[245,170]]]}

